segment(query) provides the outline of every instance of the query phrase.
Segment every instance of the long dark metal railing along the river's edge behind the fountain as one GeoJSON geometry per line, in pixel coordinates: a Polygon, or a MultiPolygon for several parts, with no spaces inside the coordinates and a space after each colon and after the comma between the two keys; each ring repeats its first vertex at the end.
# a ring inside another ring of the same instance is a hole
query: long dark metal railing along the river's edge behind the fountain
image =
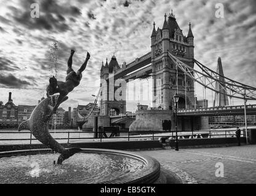
{"type": "MultiPolygon", "coordinates": [[[[110,134],[112,132],[98,132],[98,137],[94,137],[95,133],[90,131],[84,131],[84,132],[50,132],[52,134],[52,137],[55,138],[55,140],[65,140],[66,143],[70,143],[71,140],[74,141],[82,141],[82,142],[90,142],[92,141],[136,141],[136,140],[159,140],[161,137],[169,137],[170,140],[175,140],[175,131],[161,131],[161,132],[151,132],[151,131],[140,131],[140,132],[123,132],[120,131],[118,134],[120,136],[117,137],[103,137],[103,134],[110,134]],[[63,137],[64,134],[64,137],[63,137]],[[74,134],[79,134],[79,137],[76,135],[74,137],[74,134]],[[80,137],[82,134],[92,134],[93,137],[80,137]]],[[[241,132],[241,137],[243,137],[244,134],[241,132]]],[[[236,137],[235,130],[194,130],[190,132],[182,132],[178,131],[178,139],[192,139],[192,138],[221,138],[221,137],[236,137]]],[[[1,141],[30,141],[30,144],[33,140],[37,140],[33,137],[31,132],[0,132],[0,145],[1,141]],[[4,134],[30,134],[30,137],[27,138],[3,138],[2,135],[4,134]]],[[[6,143],[5,143],[6,144],[6,143]]]]}

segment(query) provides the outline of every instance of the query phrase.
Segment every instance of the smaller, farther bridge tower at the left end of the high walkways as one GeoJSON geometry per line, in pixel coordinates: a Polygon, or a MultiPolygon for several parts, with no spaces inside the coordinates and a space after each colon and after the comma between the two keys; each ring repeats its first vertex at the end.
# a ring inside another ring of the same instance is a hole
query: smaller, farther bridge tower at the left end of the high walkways
{"type": "Polygon", "coordinates": [[[111,116],[126,114],[126,86],[124,90],[120,90],[124,81],[114,81],[114,72],[121,69],[116,60],[116,56],[112,56],[110,63],[106,59],[105,66],[102,62],[100,69],[100,116],[111,116]]]}

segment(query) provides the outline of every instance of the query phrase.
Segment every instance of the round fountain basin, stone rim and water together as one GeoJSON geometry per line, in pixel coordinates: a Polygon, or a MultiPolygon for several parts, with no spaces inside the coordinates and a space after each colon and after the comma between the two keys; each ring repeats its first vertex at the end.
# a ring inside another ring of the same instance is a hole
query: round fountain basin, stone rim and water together
{"type": "Polygon", "coordinates": [[[0,183],[154,183],[157,160],[126,151],[84,148],[54,165],[59,154],[51,149],[0,153],[0,183]]]}

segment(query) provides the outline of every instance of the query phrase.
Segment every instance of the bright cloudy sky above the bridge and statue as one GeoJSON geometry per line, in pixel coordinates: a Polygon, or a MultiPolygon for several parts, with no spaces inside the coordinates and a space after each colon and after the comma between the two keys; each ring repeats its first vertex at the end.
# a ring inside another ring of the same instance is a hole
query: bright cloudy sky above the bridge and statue
{"type": "MultiPolygon", "coordinates": [[[[80,85],[62,106],[92,102],[102,61],[115,53],[122,64],[148,53],[153,21],[162,28],[164,13],[171,10],[185,35],[191,21],[195,59],[215,70],[221,56],[226,77],[256,86],[255,0],[0,0],[0,5],[0,100],[4,103],[8,92],[16,105],[36,105],[45,96],[54,70],[49,58],[54,42],[58,42],[58,80],[65,80],[71,48],[76,50],[74,70],[84,62],[87,51],[91,55],[80,85]],[[35,2],[39,18],[30,16],[35,2]],[[215,17],[217,3],[224,6],[224,18],[215,17]]],[[[196,88],[202,99],[202,88],[196,88]]],[[[133,109],[128,104],[127,110],[133,109]]]]}

